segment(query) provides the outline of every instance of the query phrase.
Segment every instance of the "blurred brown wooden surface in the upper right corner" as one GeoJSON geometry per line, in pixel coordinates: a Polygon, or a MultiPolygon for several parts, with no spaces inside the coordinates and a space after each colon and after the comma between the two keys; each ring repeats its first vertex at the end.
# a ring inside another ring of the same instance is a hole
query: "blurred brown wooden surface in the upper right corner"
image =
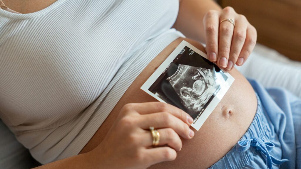
{"type": "Polygon", "coordinates": [[[255,26],[257,42],[301,61],[301,0],[220,0],[255,26]]]}

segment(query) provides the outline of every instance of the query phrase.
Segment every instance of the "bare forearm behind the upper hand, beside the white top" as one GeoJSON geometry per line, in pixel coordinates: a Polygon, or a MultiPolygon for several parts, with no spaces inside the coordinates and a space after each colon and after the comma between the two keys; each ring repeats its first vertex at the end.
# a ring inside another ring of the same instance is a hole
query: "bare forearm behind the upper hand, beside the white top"
{"type": "Polygon", "coordinates": [[[205,43],[203,18],[209,10],[222,10],[212,0],[180,0],[177,20],[173,27],[186,37],[205,43]]]}

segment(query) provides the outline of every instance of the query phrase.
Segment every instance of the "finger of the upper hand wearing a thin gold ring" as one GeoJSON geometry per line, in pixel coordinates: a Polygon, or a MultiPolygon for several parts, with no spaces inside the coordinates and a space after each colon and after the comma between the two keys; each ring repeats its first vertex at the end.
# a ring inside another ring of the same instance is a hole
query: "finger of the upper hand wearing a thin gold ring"
{"type": "MultiPolygon", "coordinates": [[[[220,21],[224,19],[232,19],[234,20],[234,10],[233,8],[225,8],[222,11],[222,15],[220,17],[220,21]]],[[[219,51],[218,51],[218,59],[217,66],[224,69],[228,65],[228,58],[230,53],[230,46],[233,36],[234,26],[232,23],[228,21],[224,21],[219,24],[219,51]]]]}

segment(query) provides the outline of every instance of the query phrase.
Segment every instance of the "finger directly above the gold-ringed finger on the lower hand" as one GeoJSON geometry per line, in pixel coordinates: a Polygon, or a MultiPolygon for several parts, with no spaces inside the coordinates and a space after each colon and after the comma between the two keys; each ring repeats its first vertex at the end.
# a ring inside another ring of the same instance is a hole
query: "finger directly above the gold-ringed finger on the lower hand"
{"type": "Polygon", "coordinates": [[[194,136],[194,132],[186,123],[169,112],[141,115],[137,120],[137,125],[145,130],[148,130],[150,126],[153,126],[155,129],[172,128],[178,135],[185,139],[191,139],[194,136]]]}

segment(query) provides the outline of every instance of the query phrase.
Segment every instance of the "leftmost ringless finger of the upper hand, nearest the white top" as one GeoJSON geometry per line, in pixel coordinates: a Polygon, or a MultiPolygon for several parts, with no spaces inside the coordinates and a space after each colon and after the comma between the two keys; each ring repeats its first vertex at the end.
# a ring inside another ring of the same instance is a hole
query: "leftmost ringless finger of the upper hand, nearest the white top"
{"type": "Polygon", "coordinates": [[[210,10],[203,20],[206,36],[206,52],[211,62],[216,62],[219,39],[219,13],[210,10]]]}

